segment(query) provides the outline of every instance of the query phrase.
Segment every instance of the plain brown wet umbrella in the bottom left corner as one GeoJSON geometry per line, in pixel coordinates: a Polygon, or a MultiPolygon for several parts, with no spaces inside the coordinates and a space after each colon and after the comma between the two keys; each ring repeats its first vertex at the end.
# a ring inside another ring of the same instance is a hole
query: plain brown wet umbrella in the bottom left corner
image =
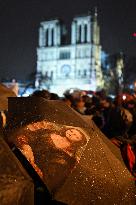
{"type": "Polygon", "coordinates": [[[34,185],[0,136],[0,204],[33,205],[34,185]]]}

